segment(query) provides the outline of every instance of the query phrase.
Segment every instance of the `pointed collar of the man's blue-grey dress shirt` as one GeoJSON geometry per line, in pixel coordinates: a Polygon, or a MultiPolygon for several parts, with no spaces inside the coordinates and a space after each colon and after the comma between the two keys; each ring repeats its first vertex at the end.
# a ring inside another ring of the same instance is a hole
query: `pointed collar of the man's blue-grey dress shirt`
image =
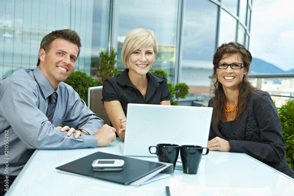
{"type": "MultiPolygon", "coordinates": [[[[45,77],[44,73],[41,71],[39,66],[37,66],[37,68],[34,69],[33,73],[45,98],[49,97],[52,93],[54,93],[54,88],[52,87],[48,79],[45,77]]],[[[56,89],[57,94],[58,94],[58,91],[59,91],[59,85],[56,89]]]]}

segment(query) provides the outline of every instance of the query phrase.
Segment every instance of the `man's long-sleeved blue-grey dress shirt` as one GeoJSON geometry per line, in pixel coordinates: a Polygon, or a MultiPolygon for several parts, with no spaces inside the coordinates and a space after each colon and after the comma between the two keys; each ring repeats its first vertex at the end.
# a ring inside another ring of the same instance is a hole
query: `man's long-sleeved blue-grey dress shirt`
{"type": "Polygon", "coordinates": [[[97,146],[98,140],[93,133],[104,125],[103,120],[86,106],[71,86],[63,82],[55,91],[58,98],[52,123],[48,121],[46,111],[53,92],[39,67],[20,69],[0,81],[0,175],[7,175],[3,160],[9,161],[9,175],[18,175],[34,149],[97,146]],[[77,139],[75,134],[68,137],[67,132],[55,128],[60,125],[81,128],[91,135],[81,135],[77,139]],[[6,154],[5,148],[9,149],[6,154]]]}

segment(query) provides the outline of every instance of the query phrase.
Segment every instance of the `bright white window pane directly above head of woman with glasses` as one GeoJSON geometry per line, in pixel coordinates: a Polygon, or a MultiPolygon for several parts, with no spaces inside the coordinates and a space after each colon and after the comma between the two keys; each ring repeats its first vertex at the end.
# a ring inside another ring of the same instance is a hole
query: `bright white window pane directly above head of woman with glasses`
{"type": "Polygon", "coordinates": [[[218,45],[221,45],[225,42],[228,43],[230,41],[235,41],[236,25],[236,19],[222,9],[220,14],[220,30],[218,45]]]}

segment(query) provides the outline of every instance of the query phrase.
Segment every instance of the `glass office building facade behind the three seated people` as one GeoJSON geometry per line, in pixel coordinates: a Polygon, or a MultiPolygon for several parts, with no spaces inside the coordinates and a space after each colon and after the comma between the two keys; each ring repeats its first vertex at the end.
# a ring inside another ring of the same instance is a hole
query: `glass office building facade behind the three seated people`
{"type": "Polygon", "coordinates": [[[151,29],[159,51],[152,69],[163,69],[172,83],[209,87],[212,57],[224,42],[248,48],[251,0],[2,0],[0,1],[0,78],[36,67],[40,41],[56,29],[81,36],[75,70],[93,75],[99,52],[118,51],[134,28],[151,29]]]}

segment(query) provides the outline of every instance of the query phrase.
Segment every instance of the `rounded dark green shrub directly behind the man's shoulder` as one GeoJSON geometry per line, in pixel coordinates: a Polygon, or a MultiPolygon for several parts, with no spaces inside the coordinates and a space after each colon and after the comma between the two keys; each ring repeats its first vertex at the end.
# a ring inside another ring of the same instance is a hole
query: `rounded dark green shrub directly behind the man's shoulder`
{"type": "Polygon", "coordinates": [[[88,104],[88,88],[98,86],[97,80],[82,71],[74,71],[64,83],[74,88],[86,105],[88,104]]]}

